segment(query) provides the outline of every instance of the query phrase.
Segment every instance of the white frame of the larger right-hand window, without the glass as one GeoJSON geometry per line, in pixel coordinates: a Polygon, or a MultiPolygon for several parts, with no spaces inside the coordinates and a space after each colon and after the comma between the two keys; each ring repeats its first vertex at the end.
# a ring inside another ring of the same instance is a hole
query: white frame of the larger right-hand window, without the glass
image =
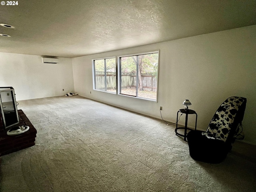
{"type": "Polygon", "coordinates": [[[143,52],[143,53],[137,53],[137,54],[125,54],[121,56],[117,56],[117,87],[118,87],[118,95],[120,96],[126,96],[126,97],[131,97],[131,98],[136,98],[136,99],[142,99],[142,100],[148,100],[152,102],[158,102],[158,80],[159,80],[159,60],[160,60],[160,50],[156,51],[151,51],[151,52],[143,52]],[[154,99],[149,99],[149,98],[143,98],[143,97],[138,97],[138,56],[140,55],[146,55],[146,54],[154,54],[158,53],[158,65],[157,65],[157,83],[156,83],[156,100],[154,99]],[[136,96],[132,95],[127,95],[127,94],[122,94],[121,89],[122,89],[122,80],[121,80],[121,58],[122,57],[130,57],[130,56],[136,56],[136,96]]]}

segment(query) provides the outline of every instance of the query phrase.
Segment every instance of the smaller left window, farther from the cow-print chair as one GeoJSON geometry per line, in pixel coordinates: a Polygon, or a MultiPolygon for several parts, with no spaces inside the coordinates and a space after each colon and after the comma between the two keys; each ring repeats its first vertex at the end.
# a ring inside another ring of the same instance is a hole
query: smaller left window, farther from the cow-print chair
{"type": "Polygon", "coordinates": [[[116,93],[116,58],[93,60],[94,89],[116,93]]]}

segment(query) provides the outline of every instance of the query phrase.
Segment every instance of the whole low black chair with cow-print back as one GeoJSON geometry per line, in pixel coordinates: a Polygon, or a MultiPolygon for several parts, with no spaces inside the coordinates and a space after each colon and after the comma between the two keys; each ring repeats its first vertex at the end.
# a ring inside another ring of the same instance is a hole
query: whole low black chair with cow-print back
{"type": "Polygon", "coordinates": [[[230,97],[220,105],[206,132],[199,130],[188,132],[190,156],[202,162],[222,162],[240,134],[245,107],[246,98],[230,97]]]}

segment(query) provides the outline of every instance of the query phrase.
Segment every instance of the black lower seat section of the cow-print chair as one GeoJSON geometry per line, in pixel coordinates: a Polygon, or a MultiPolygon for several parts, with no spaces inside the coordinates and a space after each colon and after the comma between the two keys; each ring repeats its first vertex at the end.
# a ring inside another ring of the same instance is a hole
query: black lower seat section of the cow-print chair
{"type": "Polygon", "coordinates": [[[232,148],[231,144],[222,140],[206,138],[199,130],[188,132],[187,140],[190,156],[201,162],[220,163],[232,148]]]}

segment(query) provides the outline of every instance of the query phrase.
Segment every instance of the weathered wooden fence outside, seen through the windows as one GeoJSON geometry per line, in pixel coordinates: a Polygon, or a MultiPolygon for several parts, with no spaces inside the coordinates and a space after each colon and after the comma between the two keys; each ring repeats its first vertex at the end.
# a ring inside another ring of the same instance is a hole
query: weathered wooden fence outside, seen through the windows
{"type": "MultiPolygon", "coordinates": [[[[136,88],[136,74],[122,73],[122,88],[136,88]]],[[[104,90],[104,72],[96,72],[96,89],[104,90]]],[[[106,72],[107,89],[116,89],[116,73],[106,72]]],[[[154,74],[142,74],[143,90],[156,92],[157,78],[154,74]]]]}

